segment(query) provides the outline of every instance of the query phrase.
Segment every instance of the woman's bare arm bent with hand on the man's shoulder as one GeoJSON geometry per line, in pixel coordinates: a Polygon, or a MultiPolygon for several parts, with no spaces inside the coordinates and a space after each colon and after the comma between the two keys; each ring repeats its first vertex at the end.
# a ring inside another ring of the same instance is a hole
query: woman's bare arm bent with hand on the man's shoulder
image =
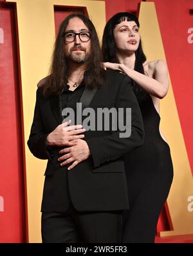
{"type": "Polygon", "coordinates": [[[138,83],[138,85],[140,85],[145,91],[149,92],[149,94],[152,96],[156,96],[157,98],[164,98],[169,89],[167,64],[161,59],[156,61],[154,67],[152,67],[154,78],[141,74],[121,63],[106,62],[104,63],[104,67],[107,69],[115,69],[124,72],[127,74],[127,76],[138,83]]]}

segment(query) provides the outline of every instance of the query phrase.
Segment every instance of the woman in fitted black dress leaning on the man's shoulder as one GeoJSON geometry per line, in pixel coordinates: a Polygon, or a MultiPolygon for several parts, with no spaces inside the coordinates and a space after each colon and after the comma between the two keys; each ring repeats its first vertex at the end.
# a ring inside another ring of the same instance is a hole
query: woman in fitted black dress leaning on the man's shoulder
{"type": "Polygon", "coordinates": [[[130,209],[124,212],[122,242],[154,242],[173,178],[170,148],[159,129],[159,101],[169,89],[167,65],[146,61],[139,27],[136,16],[120,12],[107,22],[102,42],[104,68],[133,79],[145,129],[144,144],[125,155],[130,209]]]}

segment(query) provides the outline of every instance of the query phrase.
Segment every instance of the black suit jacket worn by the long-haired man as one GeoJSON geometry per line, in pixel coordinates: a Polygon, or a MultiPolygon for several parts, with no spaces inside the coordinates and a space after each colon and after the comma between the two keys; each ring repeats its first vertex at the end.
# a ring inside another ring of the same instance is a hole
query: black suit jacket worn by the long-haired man
{"type": "MultiPolygon", "coordinates": [[[[46,136],[62,122],[60,96],[44,97],[42,89],[37,89],[28,147],[37,158],[48,159],[41,209],[44,212],[64,212],[69,200],[78,211],[129,208],[122,156],[142,145],[142,116],[131,79],[113,70],[105,73],[106,85],[96,90],[89,107],[131,108],[131,136],[120,138],[120,131],[86,131],[84,140],[91,156],[70,171],[68,166],[60,167],[59,148],[46,147],[46,136]]],[[[83,101],[88,107],[87,99],[83,101]]]]}

